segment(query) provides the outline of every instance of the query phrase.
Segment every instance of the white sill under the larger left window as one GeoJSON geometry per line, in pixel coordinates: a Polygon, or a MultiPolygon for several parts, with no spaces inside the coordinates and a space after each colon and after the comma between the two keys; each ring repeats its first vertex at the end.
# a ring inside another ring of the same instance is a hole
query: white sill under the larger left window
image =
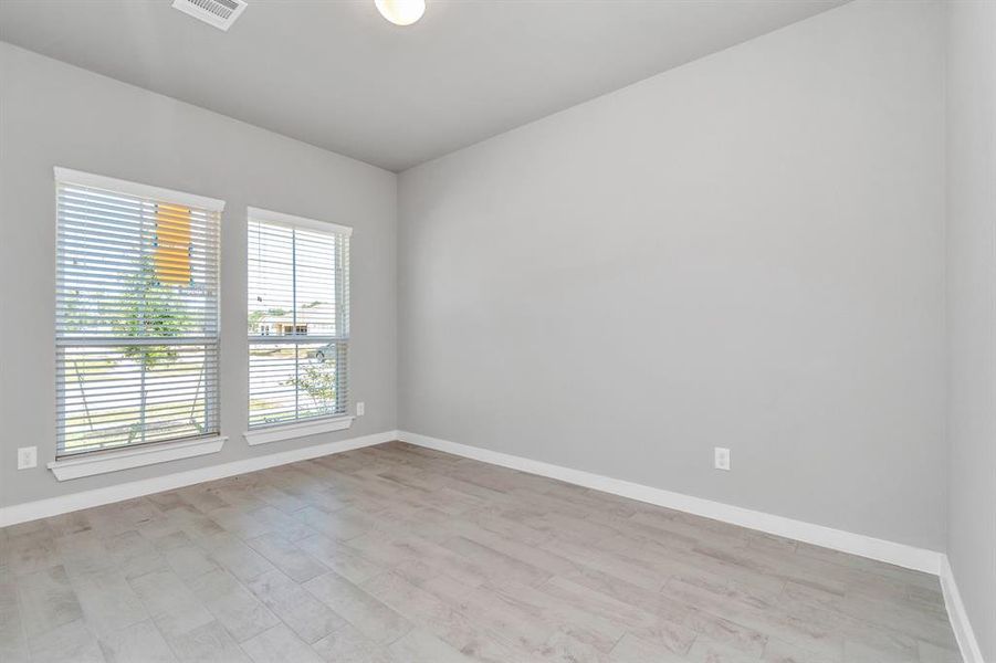
{"type": "Polygon", "coordinates": [[[167,461],[217,453],[221,451],[226,440],[228,440],[226,436],[212,435],[210,438],[198,438],[196,440],[185,440],[182,442],[148,444],[136,446],[135,449],[98,451],[78,457],[53,461],[49,463],[49,470],[55,474],[55,478],[59,481],[92,476],[94,474],[106,474],[107,472],[117,472],[118,470],[141,467],[144,465],[154,465],[167,461]]]}

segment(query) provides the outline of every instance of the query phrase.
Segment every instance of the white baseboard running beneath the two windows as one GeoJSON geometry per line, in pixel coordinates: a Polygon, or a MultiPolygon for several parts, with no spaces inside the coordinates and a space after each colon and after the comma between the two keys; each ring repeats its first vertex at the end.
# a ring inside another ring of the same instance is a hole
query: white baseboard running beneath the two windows
{"type": "Polygon", "coordinates": [[[227,476],[235,476],[237,474],[255,472],[256,470],[265,470],[266,467],[275,467],[277,465],[286,465],[287,463],[296,463],[297,461],[316,459],[332,453],[349,451],[350,449],[382,444],[385,442],[397,440],[398,435],[398,431],[386,431],[373,435],[363,435],[360,438],[350,438],[349,440],[338,440],[336,442],[326,442],[324,444],[315,444],[303,449],[292,449],[290,451],[253,456],[241,461],[221,463],[220,465],[209,465],[207,467],[198,467],[197,470],[188,470],[186,472],[164,474],[162,476],[122,483],[105,488],[81,491],[78,493],[70,493],[57,497],[49,497],[48,499],[6,506],[0,508],[0,527],[27,523],[28,520],[36,520],[39,518],[48,518],[59,514],[80,511],[81,508],[111,504],[112,502],[141,497],[143,495],[151,495],[153,493],[160,493],[162,491],[171,491],[206,481],[214,481],[227,476]]]}

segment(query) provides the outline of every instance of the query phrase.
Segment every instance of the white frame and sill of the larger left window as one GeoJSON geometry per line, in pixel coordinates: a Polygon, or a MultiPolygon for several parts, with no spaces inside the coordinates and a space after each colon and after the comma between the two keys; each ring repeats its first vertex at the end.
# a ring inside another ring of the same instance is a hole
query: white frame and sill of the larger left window
{"type": "MultiPolygon", "coordinates": [[[[209,212],[212,214],[217,214],[217,235],[214,238],[213,246],[209,246],[208,250],[212,251],[214,254],[213,264],[211,262],[207,263],[209,266],[213,267],[213,285],[216,292],[213,293],[214,298],[214,311],[213,319],[205,318],[205,320],[209,320],[213,326],[213,334],[208,334],[206,336],[117,336],[117,335],[108,335],[106,337],[74,337],[71,335],[65,335],[62,330],[63,320],[59,315],[54,317],[54,350],[55,350],[55,368],[56,368],[56,380],[59,379],[59,367],[60,360],[59,357],[66,351],[67,348],[73,347],[107,347],[111,348],[123,348],[123,347],[138,347],[143,345],[149,345],[150,340],[156,340],[157,346],[203,346],[205,347],[205,361],[208,361],[208,356],[210,351],[214,352],[214,366],[213,370],[210,372],[213,373],[213,389],[207,389],[205,393],[206,401],[206,412],[210,412],[210,414],[206,414],[206,424],[209,425],[210,430],[203,434],[199,435],[180,435],[176,438],[165,438],[158,440],[150,440],[144,442],[129,442],[126,444],[120,444],[116,446],[109,448],[96,448],[83,451],[76,451],[72,453],[66,453],[64,449],[64,442],[61,439],[63,434],[61,431],[59,422],[63,421],[66,417],[66,408],[67,404],[64,400],[64,394],[60,396],[59,387],[56,385],[56,398],[55,398],[55,421],[56,421],[56,441],[55,441],[55,461],[49,463],[49,469],[53,471],[56,478],[59,481],[64,481],[66,478],[76,478],[80,476],[88,476],[92,474],[101,474],[104,472],[114,472],[117,470],[124,470],[128,467],[137,467],[141,465],[148,465],[170,460],[176,460],[180,457],[190,457],[195,455],[203,455],[207,453],[216,453],[221,450],[227,438],[221,435],[221,370],[220,365],[217,361],[217,358],[220,357],[221,354],[221,271],[220,271],[220,253],[221,253],[221,215],[224,210],[224,201],[208,198],[205,196],[198,196],[193,193],[187,193],[184,191],[176,191],[171,189],[166,189],[161,187],[155,187],[150,185],[144,185],[138,182],[133,182],[129,180],[123,180],[112,177],[106,177],[102,175],[95,175],[91,172],[84,172],[80,170],[73,170],[69,168],[54,167],[54,190],[55,190],[55,204],[54,204],[54,219],[55,219],[55,231],[56,238],[60,236],[61,232],[61,213],[60,213],[60,204],[59,204],[59,194],[62,187],[65,186],[76,186],[81,188],[87,189],[96,189],[104,190],[111,193],[117,193],[125,197],[137,198],[144,201],[148,201],[150,204],[169,204],[169,206],[180,206],[180,207],[189,207],[196,208],[198,210],[209,212]],[[210,402],[208,401],[210,399],[210,402]]],[[[59,248],[61,244],[59,240],[56,240],[56,255],[55,255],[55,269],[56,269],[56,284],[57,282],[57,271],[62,269],[63,262],[59,255],[59,248]]],[[[61,297],[61,285],[56,285],[55,296],[53,298],[54,302],[60,302],[61,297]]],[[[210,370],[207,368],[206,370],[210,370]]],[[[207,375],[207,373],[206,373],[207,375]]],[[[143,435],[144,436],[144,435],[143,435]]]]}

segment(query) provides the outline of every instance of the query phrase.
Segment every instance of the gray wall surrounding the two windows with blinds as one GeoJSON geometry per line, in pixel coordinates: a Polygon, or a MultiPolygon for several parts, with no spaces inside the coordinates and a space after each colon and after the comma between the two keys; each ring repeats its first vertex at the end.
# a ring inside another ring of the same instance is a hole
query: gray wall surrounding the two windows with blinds
{"type": "Polygon", "coordinates": [[[392,430],[396,185],[391,172],[0,43],[0,505],[392,430]],[[228,201],[221,453],[63,483],[44,469],[55,450],[53,166],[228,201]],[[348,431],[252,449],[242,439],[247,206],[355,229],[350,391],[366,415],[348,431]],[[27,445],[39,467],[19,472],[14,449],[27,445]]]}

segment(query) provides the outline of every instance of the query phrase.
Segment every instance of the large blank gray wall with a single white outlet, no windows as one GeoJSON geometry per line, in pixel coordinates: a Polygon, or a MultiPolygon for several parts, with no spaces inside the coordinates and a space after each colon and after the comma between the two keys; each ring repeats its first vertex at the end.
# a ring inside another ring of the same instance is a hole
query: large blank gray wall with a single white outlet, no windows
{"type": "Polygon", "coordinates": [[[943,549],[942,11],[858,1],[403,172],[400,428],[943,549]]]}

